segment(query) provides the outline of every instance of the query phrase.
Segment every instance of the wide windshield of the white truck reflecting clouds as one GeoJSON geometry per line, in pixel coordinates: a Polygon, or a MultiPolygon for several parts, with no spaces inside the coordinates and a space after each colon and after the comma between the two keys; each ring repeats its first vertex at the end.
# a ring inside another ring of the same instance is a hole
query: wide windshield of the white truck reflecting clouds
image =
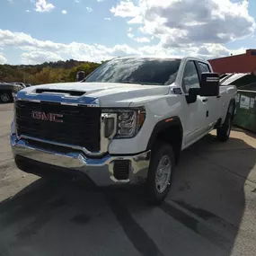
{"type": "Polygon", "coordinates": [[[180,64],[181,59],[174,58],[115,58],[83,82],[167,85],[175,81],[180,64]]]}

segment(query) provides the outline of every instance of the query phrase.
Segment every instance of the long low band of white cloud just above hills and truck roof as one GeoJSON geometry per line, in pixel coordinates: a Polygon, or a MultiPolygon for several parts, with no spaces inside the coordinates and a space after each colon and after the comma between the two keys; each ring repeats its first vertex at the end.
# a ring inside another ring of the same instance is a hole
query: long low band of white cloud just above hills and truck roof
{"type": "MultiPolygon", "coordinates": [[[[146,43],[152,38],[135,37],[133,30],[128,28],[128,34],[137,42],[146,43]]],[[[99,44],[85,44],[71,42],[69,44],[53,42],[50,40],[37,40],[31,35],[22,32],[12,32],[0,30],[0,49],[5,47],[18,49],[21,51],[17,61],[22,64],[35,64],[45,61],[56,61],[59,59],[74,58],[77,60],[87,60],[101,62],[118,56],[128,55],[163,55],[163,56],[195,56],[195,57],[223,57],[231,53],[244,53],[245,49],[226,49],[221,44],[206,43],[201,46],[188,45],[184,48],[163,48],[161,43],[156,45],[144,45],[143,47],[131,48],[126,44],[105,47],[99,44]]],[[[2,57],[3,58],[3,57],[2,57]]],[[[3,61],[3,60],[2,60],[3,61]]],[[[4,58],[5,61],[5,58],[4,58]]],[[[16,63],[17,64],[17,63],[16,63]]]]}

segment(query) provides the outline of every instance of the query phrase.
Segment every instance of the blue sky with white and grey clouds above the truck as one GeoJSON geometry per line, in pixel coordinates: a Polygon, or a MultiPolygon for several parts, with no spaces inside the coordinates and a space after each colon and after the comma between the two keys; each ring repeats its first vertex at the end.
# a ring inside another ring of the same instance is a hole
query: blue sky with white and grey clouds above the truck
{"type": "Polygon", "coordinates": [[[256,49],[255,0],[0,0],[0,64],[256,49]]]}

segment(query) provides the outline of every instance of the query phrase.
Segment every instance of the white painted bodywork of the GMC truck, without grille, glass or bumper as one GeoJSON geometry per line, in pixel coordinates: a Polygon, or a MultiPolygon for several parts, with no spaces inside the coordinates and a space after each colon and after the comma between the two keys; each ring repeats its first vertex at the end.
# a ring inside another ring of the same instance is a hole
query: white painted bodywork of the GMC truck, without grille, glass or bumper
{"type": "MultiPolygon", "coordinates": [[[[184,149],[205,136],[214,128],[218,119],[225,120],[227,108],[231,99],[234,99],[235,86],[221,86],[220,98],[198,96],[198,101],[188,104],[181,87],[184,66],[188,60],[207,61],[186,57],[181,60],[176,81],[171,85],[141,85],[141,84],[111,84],[111,83],[65,83],[44,84],[29,87],[22,93],[33,94],[36,89],[57,89],[86,92],[82,97],[98,99],[102,108],[146,108],[146,121],[136,137],[128,139],[113,139],[110,142],[110,154],[137,154],[146,151],[149,138],[154,126],[163,119],[177,116],[181,119],[183,128],[183,140],[181,149],[184,149]],[[172,88],[181,88],[182,94],[173,94],[172,88]],[[207,111],[209,117],[207,118],[207,111]]],[[[211,66],[210,66],[211,68],[211,66]]],[[[212,69],[211,69],[212,71],[212,69]]],[[[22,94],[21,93],[21,94],[22,94]]],[[[77,98],[79,102],[79,97],[77,98]]]]}

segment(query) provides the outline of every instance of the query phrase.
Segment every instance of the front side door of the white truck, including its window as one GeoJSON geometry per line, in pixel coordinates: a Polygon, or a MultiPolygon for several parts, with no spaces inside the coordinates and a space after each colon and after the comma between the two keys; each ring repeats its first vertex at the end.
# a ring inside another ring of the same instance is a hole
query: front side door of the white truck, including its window
{"type": "MultiPolygon", "coordinates": [[[[185,64],[181,83],[185,95],[189,93],[190,88],[200,88],[199,70],[195,61],[188,60],[185,64]]],[[[197,102],[187,102],[188,119],[184,134],[184,146],[190,146],[207,132],[207,102],[205,100],[205,97],[198,96],[197,102]]]]}

